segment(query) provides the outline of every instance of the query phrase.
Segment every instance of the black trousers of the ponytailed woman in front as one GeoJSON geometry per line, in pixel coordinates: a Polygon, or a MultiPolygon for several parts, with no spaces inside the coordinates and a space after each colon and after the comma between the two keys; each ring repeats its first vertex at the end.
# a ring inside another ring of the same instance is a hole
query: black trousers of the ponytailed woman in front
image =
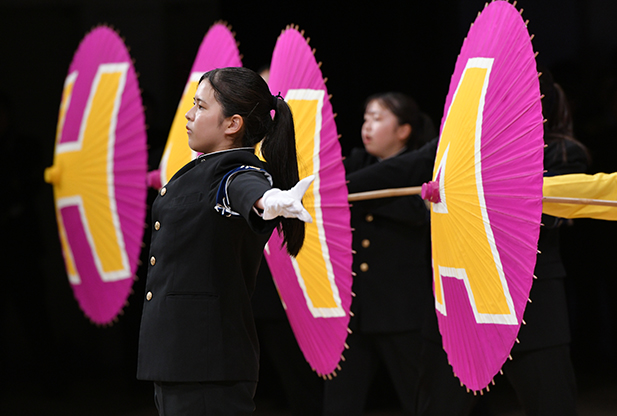
{"type": "Polygon", "coordinates": [[[244,416],[255,411],[255,381],[154,383],[159,416],[244,416]]]}

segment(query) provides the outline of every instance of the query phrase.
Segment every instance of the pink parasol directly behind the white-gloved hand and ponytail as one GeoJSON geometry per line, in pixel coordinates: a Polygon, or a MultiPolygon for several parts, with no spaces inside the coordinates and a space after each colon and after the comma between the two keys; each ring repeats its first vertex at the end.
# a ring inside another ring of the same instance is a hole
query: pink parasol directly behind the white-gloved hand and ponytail
{"type": "Polygon", "coordinates": [[[294,116],[300,178],[315,181],[303,202],[313,223],[296,258],[272,234],[265,250],[300,349],[321,376],[335,373],[348,334],[351,304],[351,228],[345,170],[324,78],[308,41],[295,27],[279,36],[270,90],[294,116]]]}

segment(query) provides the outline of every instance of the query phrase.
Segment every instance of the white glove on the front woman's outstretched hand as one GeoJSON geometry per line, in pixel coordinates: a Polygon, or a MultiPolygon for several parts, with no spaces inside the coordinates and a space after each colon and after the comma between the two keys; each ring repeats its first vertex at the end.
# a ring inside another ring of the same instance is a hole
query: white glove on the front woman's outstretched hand
{"type": "Polygon", "coordinates": [[[300,221],[313,222],[311,214],[302,205],[302,197],[311,185],[315,175],[307,176],[288,191],[272,188],[262,197],[264,220],[271,220],[279,216],[298,218],[300,221]]]}

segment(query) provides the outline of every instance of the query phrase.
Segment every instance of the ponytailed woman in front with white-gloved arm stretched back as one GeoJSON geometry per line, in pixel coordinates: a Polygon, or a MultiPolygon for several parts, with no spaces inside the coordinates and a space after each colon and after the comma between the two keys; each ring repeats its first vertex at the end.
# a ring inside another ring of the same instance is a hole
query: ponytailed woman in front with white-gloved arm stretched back
{"type": "Polygon", "coordinates": [[[312,178],[298,182],[287,103],[249,69],[204,74],[186,119],[189,146],[203,154],[152,205],[137,378],[154,381],[161,416],[251,414],[259,347],[250,296],[274,228],[289,254],[300,251],[312,178]],[[254,154],[260,141],[267,163],[254,154]]]}

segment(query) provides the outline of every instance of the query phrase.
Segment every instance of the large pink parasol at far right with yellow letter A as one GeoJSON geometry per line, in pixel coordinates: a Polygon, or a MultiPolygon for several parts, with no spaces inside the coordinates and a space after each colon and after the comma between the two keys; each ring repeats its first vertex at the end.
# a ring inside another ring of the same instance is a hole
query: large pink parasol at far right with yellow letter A
{"type": "Polygon", "coordinates": [[[525,22],[494,1],[452,75],[433,172],[435,307],[454,373],[482,390],[508,359],[533,281],[543,129],[525,22]]]}

